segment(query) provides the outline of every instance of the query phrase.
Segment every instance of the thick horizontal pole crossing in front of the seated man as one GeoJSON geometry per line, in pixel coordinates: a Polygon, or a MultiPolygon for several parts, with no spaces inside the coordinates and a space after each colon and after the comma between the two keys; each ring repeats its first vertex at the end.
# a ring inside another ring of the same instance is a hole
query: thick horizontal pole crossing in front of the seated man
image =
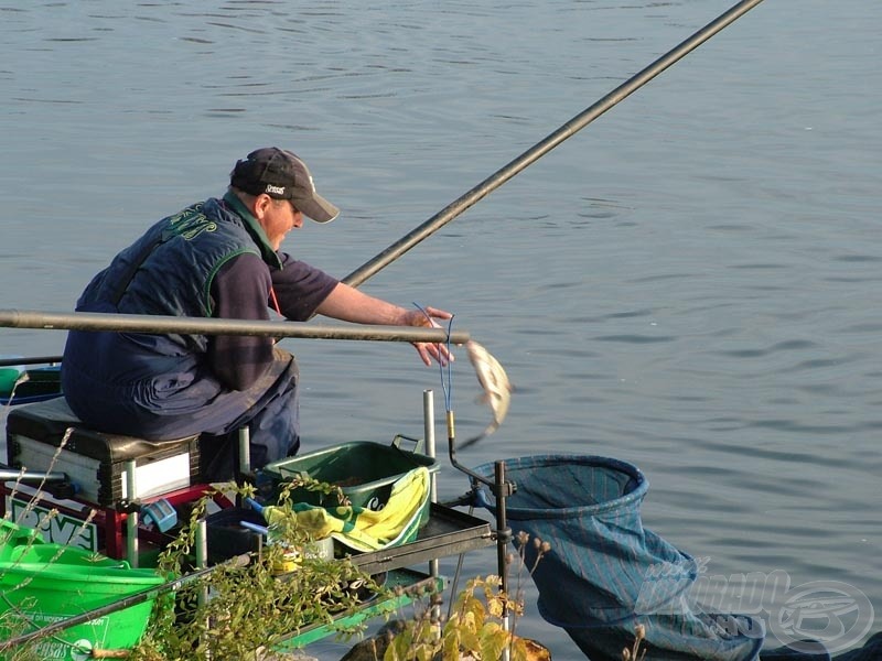
{"type": "MultiPolygon", "coordinates": [[[[0,327],[51,330],[110,330],[116,333],[179,333],[183,335],[255,335],[378,342],[447,343],[444,328],[417,326],[318,326],[298,322],[257,322],[103,312],[53,313],[34,310],[0,310],[0,327]]],[[[450,342],[465,344],[469,333],[455,330],[450,342]]]]}

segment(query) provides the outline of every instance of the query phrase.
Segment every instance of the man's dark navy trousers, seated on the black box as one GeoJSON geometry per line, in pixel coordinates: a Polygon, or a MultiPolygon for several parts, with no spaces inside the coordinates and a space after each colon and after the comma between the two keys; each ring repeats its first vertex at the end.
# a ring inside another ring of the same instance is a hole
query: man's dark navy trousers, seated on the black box
{"type": "Polygon", "coordinates": [[[252,468],[297,453],[299,370],[288,351],[276,348],[275,361],[248,390],[227,390],[194,357],[111,351],[116,355],[99,353],[96,359],[94,334],[90,351],[76,350],[80,335],[68,336],[62,387],[71,409],[92,429],[150,441],[201,434],[202,477],[212,481],[235,476],[238,430],[245,425],[252,468]],[[157,370],[149,378],[125,378],[150,369],[151,361],[157,370]]]}

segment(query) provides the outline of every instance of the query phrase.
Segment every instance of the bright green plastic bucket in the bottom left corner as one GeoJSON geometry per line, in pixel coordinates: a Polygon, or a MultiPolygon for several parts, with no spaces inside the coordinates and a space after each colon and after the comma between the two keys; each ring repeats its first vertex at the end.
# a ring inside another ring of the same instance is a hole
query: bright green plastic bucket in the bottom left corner
{"type": "MultiPolygon", "coordinates": [[[[164,583],[153,570],[132,570],[126,561],[28,541],[28,529],[8,521],[0,529],[0,640],[22,636],[84,611],[118,602],[164,583]]],[[[83,625],[57,631],[32,644],[37,659],[80,661],[90,650],[125,650],[143,635],[154,599],[83,625]]]]}

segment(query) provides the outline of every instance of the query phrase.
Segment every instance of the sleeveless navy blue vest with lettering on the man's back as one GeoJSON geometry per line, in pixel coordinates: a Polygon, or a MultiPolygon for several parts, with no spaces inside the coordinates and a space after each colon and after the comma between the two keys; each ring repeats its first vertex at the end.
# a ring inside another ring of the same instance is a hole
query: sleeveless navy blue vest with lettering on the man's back
{"type": "MultiPolygon", "coordinates": [[[[227,194],[163,218],[120,252],[88,284],[79,312],[212,316],[212,281],[230,259],[250,252],[278,266],[278,256],[238,198],[227,194]]],[[[144,336],[144,342],[150,342],[144,336]]],[[[203,353],[204,335],[165,335],[184,351],[203,353]]],[[[130,338],[132,338],[130,336],[130,338]]]]}

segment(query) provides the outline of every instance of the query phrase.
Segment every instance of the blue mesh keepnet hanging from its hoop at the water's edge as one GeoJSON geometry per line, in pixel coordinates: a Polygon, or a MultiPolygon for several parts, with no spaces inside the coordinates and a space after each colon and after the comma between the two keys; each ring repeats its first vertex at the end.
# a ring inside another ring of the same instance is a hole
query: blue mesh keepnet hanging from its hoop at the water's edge
{"type": "MultiPolygon", "coordinates": [[[[494,465],[474,472],[488,479],[494,465]]],[[[765,632],[741,615],[708,613],[689,598],[696,561],[645,529],[641,503],[648,481],[617,459],[544,455],[505,460],[517,485],[506,500],[512,531],[550,544],[533,578],[539,613],[563,628],[594,661],[621,661],[636,625],[645,627],[647,659],[755,659],[765,632]]],[[[477,501],[495,512],[482,487],[477,501]]],[[[538,553],[525,546],[527,566],[538,553]]]]}

